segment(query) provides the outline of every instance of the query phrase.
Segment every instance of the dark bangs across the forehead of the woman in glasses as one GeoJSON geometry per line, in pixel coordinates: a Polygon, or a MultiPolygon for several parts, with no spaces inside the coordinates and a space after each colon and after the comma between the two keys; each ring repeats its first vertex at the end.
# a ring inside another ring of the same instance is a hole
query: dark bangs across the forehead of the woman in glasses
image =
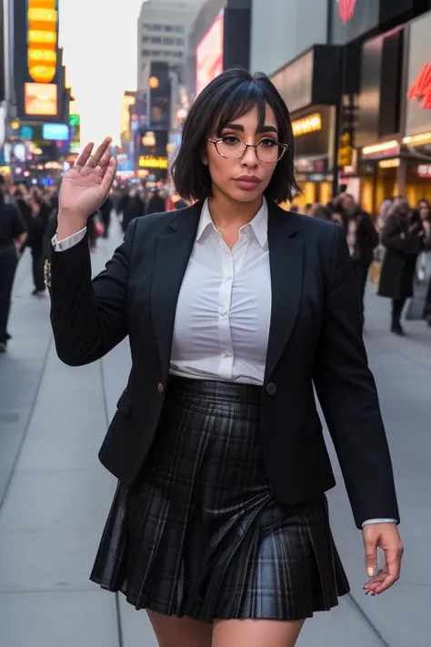
{"type": "MultiPolygon", "coordinates": [[[[236,86],[232,92],[229,92],[227,98],[225,93],[223,93],[223,96],[217,98],[218,100],[216,101],[214,111],[217,117],[213,125],[213,133],[217,137],[220,136],[226,124],[230,124],[236,121],[236,119],[245,116],[255,107],[257,109],[258,127],[265,126],[266,105],[269,105],[269,101],[264,89],[254,81],[244,81],[236,86]]],[[[213,133],[210,133],[210,135],[213,133]]]]}

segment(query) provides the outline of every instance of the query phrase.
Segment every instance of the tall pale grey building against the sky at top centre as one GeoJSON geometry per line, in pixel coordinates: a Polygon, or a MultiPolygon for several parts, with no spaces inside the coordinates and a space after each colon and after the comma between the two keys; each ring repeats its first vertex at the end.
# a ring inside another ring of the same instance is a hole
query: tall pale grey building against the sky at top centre
{"type": "Polygon", "coordinates": [[[145,66],[167,63],[184,78],[187,33],[203,0],[146,0],[137,21],[137,88],[145,89],[145,66]]]}

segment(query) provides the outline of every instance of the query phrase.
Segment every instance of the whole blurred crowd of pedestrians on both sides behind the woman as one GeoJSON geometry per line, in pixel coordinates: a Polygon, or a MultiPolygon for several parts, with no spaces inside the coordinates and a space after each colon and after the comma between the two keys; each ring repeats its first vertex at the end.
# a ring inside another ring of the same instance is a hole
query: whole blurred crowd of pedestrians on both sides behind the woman
{"type": "MultiPolygon", "coordinates": [[[[163,185],[117,183],[88,220],[89,248],[94,251],[99,238],[108,238],[113,216],[125,231],[135,217],[186,206],[184,199],[163,185]]],[[[405,197],[388,198],[372,217],[353,196],[340,193],[326,205],[293,204],[290,210],[344,228],[364,320],[366,285],[371,279],[378,284],[378,294],[391,299],[394,334],[405,334],[404,313],[407,319],[423,319],[431,327],[431,207],[427,200],[413,207],[405,197]]],[[[15,271],[25,249],[32,257],[32,294],[45,293],[45,248],[55,235],[57,212],[58,187],[8,184],[0,176],[0,352],[5,352],[11,339],[7,320],[15,271]]]]}

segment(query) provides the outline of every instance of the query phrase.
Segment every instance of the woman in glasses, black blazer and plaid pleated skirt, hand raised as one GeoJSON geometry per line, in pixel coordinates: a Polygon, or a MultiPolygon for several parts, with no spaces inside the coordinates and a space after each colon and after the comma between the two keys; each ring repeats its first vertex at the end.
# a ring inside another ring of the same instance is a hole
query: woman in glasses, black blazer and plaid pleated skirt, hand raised
{"type": "Polygon", "coordinates": [[[195,204],[135,219],[93,284],[83,237],[115,177],[109,140],[65,175],[48,268],[58,355],[85,364],[129,335],[133,356],[99,454],[119,484],[91,577],[146,609],[163,647],[293,647],[305,619],[348,591],[313,382],[363,531],[366,591],[398,577],[346,237],[276,204],[297,192],[293,141],[265,75],[217,76],[173,169],[195,204]]]}

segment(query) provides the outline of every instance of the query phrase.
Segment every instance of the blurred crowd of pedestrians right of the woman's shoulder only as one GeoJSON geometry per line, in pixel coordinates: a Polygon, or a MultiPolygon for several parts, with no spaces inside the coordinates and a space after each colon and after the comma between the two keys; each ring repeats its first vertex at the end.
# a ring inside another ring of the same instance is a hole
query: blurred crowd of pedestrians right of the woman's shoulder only
{"type": "Polygon", "coordinates": [[[364,321],[370,278],[378,285],[377,294],[391,299],[390,329],[394,334],[406,334],[401,324],[403,313],[407,319],[423,319],[431,326],[431,207],[427,200],[419,200],[413,207],[403,196],[387,198],[376,218],[348,193],[340,193],[327,205],[301,208],[294,204],[291,210],[344,228],[364,321]]]}

